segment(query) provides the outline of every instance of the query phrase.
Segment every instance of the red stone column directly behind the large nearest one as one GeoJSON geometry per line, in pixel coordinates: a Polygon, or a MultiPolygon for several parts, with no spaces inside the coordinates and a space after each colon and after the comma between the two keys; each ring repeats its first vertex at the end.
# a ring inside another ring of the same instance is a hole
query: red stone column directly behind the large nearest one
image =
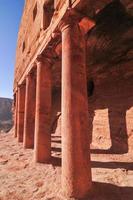
{"type": "Polygon", "coordinates": [[[47,163],[51,158],[51,63],[37,58],[35,161],[47,163]]]}

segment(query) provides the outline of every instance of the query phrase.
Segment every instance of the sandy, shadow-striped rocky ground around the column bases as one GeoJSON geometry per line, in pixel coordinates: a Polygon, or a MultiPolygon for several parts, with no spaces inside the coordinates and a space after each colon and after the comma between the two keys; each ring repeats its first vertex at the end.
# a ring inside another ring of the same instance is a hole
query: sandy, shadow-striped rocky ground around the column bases
{"type": "MultiPolygon", "coordinates": [[[[0,134],[0,200],[64,200],[61,196],[61,138],[52,136],[52,164],[35,164],[13,134],[0,134]]],[[[133,156],[91,155],[93,188],[86,200],[133,200],[133,156]]],[[[67,200],[67,199],[65,199],[67,200]]]]}

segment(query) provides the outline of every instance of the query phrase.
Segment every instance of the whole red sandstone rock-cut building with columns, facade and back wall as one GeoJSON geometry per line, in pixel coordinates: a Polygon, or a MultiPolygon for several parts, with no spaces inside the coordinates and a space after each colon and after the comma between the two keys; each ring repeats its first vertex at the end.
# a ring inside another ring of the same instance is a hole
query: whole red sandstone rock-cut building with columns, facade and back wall
{"type": "Polygon", "coordinates": [[[68,198],[83,198],[91,189],[93,137],[102,143],[110,134],[109,151],[132,151],[132,8],[132,0],[25,1],[14,78],[15,137],[34,149],[36,162],[50,163],[51,133],[61,135],[68,198]]]}

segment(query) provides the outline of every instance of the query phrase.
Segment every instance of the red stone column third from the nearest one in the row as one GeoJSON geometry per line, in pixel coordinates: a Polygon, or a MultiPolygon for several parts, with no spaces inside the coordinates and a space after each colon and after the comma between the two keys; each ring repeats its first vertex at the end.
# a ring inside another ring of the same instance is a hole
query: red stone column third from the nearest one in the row
{"type": "Polygon", "coordinates": [[[24,117],[24,148],[34,147],[35,130],[35,76],[30,73],[26,77],[25,117],[24,117]]]}

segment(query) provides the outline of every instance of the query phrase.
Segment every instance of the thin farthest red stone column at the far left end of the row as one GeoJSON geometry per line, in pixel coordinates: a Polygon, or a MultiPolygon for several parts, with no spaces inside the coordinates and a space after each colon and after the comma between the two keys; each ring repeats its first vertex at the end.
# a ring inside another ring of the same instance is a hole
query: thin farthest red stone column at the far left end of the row
{"type": "Polygon", "coordinates": [[[15,108],[14,108],[14,137],[17,137],[17,126],[18,126],[18,91],[15,93],[15,108]]]}

